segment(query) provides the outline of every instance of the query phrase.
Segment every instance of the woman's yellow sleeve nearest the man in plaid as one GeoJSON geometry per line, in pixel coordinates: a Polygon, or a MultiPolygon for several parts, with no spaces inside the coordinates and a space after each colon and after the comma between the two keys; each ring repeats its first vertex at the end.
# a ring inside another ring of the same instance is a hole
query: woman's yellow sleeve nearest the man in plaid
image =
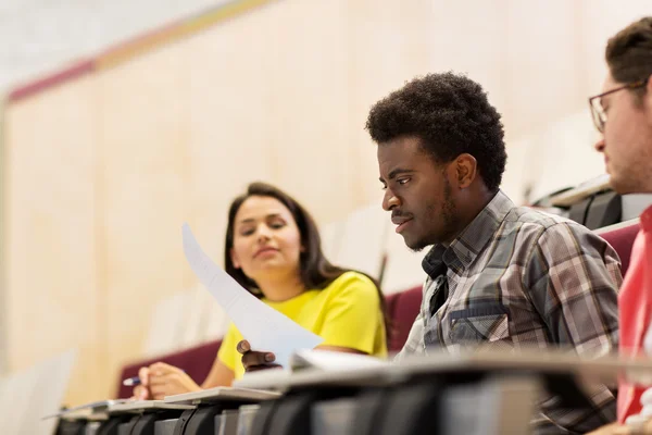
{"type": "Polygon", "coordinates": [[[347,272],[328,288],[322,346],[339,346],[374,355],[379,332],[384,331],[380,298],[374,283],[364,275],[347,272]]]}

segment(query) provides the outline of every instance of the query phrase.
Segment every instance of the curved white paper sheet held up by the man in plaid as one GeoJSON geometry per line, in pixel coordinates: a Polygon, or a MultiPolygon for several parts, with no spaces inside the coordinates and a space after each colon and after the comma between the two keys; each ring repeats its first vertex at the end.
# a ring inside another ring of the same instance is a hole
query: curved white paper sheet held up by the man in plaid
{"type": "Polygon", "coordinates": [[[251,348],[274,352],[276,363],[288,366],[299,349],[312,349],[324,339],[299,326],[242,288],[204,253],[188,224],[184,224],[184,252],[192,272],[222,306],[251,348]]]}

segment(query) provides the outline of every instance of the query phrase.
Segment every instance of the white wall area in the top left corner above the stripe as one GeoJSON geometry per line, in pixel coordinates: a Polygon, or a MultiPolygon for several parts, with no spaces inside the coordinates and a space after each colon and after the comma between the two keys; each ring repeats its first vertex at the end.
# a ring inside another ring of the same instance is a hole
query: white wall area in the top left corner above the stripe
{"type": "Polygon", "coordinates": [[[0,90],[229,0],[2,0],[0,90]]]}

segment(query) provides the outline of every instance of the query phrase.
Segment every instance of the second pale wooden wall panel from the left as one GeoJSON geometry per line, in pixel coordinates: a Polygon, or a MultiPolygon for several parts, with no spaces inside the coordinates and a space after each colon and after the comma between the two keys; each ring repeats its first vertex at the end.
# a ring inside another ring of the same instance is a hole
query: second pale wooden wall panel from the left
{"type": "MultiPolygon", "coordinates": [[[[180,45],[97,76],[105,360],[141,355],[153,304],[184,288],[187,73],[180,45]]],[[[113,381],[114,382],[114,381],[113,381]]]]}

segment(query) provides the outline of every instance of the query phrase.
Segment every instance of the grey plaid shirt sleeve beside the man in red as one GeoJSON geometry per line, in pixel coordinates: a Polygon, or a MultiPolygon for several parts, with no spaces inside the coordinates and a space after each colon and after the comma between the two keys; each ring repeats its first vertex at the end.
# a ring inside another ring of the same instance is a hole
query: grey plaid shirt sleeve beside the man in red
{"type": "MultiPolygon", "coordinates": [[[[525,270],[524,288],[547,325],[552,343],[584,357],[617,351],[617,288],[623,278],[617,253],[584,226],[560,223],[547,228],[525,270]]],[[[585,433],[615,421],[615,394],[598,385],[589,394],[591,410],[568,412],[559,398],[541,405],[555,425],[585,433]]]]}

